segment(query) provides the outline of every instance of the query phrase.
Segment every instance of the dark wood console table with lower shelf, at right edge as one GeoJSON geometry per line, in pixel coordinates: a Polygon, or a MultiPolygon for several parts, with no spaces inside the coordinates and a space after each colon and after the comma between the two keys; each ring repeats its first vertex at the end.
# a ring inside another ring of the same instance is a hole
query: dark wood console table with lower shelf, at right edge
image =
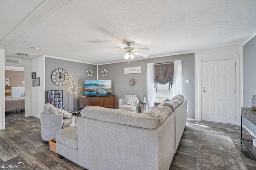
{"type": "Polygon", "coordinates": [[[256,111],[246,107],[241,108],[241,145],[244,144],[250,156],[256,158],[256,148],[252,145],[252,141],[243,139],[243,117],[256,126],[256,111]]]}

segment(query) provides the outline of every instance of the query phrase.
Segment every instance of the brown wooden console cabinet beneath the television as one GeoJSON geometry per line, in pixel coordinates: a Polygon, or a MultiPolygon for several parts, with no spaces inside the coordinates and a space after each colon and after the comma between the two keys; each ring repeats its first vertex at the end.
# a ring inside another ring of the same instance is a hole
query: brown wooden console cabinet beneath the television
{"type": "Polygon", "coordinates": [[[115,108],[115,96],[93,96],[93,97],[80,97],[78,101],[79,109],[85,106],[102,106],[115,108]]]}

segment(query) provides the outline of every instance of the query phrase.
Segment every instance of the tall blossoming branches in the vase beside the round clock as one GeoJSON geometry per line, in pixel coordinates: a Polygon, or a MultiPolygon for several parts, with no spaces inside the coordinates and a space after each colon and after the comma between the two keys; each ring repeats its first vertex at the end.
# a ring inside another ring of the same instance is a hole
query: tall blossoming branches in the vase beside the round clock
{"type": "Polygon", "coordinates": [[[75,74],[72,74],[72,76],[68,77],[68,88],[66,89],[67,92],[70,94],[73,94],[73,102],[74,102],[74,113],[76,111],[75,108],[75,95],[81,92],[82,90],[82,84],[78,83],[78,79],[74,79],[75,74]]]}

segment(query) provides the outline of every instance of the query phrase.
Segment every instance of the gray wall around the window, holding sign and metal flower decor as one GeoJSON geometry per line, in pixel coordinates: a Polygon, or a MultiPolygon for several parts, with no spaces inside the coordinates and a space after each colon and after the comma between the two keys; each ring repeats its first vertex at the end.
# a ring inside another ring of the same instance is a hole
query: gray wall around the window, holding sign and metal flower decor
{"type": "Polygon", "coordinates": [[[194,53],[175,55],[168,57],[158,57],[145,60],[128,61],[122,63],[105,64],[98,66],[99,80],[112,80],[112,94],[116,95],[116,108],[118,108],[118,99],[124,98],[125,94],[137,94],[140,101],[142,96],[146,95],[146,70],[147,63],[165,63],[174,60],[182,60],[182,93],[188,100],[188,118],[195,118],[195,68],[194,68],[194,53]],[[141,66],[142,73],[124,74],[124,67],[141,66]],[[108,70],[108,76],[102,76],[102,70],[108,70]],[[137,84],[129,86],[130,79],[136,79],[137,84]],[[185,79],[189,79],[190,83],[185,84],[185,79]]]}

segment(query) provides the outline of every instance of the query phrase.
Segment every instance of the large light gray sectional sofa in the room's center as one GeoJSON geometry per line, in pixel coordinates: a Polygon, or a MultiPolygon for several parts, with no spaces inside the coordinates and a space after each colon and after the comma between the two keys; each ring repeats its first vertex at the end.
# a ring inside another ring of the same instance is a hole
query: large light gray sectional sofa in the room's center
{"type": "Polygon", "coordinates": [[[187,101],[142,114],[87,106],[78,125],[58,131],[60,157],[89,170],[168,170],[187,119],[187,101]]]}

